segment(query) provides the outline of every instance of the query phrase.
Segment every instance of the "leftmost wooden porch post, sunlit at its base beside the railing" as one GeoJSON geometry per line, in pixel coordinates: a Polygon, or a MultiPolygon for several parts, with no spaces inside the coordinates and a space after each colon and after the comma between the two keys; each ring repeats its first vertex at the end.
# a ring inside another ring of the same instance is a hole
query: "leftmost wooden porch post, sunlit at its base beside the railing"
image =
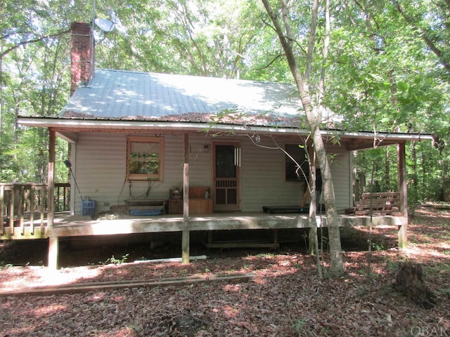
{"type": "Polygon", "coordinates": [[[49,169],[47,181],[47,233],[49,234],[49,268],[58,269],[59,238],[53,237],[53,219],[55,210],[55,147],[56,133],[49,128],[49,169]]]}

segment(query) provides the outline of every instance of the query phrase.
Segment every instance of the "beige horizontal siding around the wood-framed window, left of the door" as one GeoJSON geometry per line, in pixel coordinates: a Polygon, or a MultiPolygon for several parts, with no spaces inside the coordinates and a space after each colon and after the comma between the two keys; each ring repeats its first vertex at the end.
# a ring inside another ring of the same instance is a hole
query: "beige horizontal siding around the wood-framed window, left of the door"
{"type": "MultiPolygon", "coordinates": [[[[154,137],[155,133],[139,136],[154,137]]],[[[160,136],[160,135],[158,135],[160,136]]],[[[84,199],[96,201],[96,212],[109,211],[110,206],[124,205],[126,199],[169,199],[172,187],[183,187],[183,136],[166,134],[164,138],[164,173],[162,181],[129,181],[126,179],[127,135],[120,133],[82,133],[77,143],[77,163],[73,166],[84,199]]],[[[211,185],[211,145],[204,134],[193,134],[190,140],[190,185],[211,185]],[[205,145],[208,150],[205,152],[205,145]]],[[[75,196],[75,213],[82,203],[75,196]]]]}

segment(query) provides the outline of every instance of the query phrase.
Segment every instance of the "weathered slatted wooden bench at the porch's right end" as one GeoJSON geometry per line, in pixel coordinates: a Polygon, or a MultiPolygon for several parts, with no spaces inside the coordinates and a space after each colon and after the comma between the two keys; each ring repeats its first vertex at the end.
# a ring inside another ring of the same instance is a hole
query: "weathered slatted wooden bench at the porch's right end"
{"type": "Polygon", "coordinates": [[[363,193],[354,207],[355,216],[388,215],[399,211],[400,192],[363,193]]]}

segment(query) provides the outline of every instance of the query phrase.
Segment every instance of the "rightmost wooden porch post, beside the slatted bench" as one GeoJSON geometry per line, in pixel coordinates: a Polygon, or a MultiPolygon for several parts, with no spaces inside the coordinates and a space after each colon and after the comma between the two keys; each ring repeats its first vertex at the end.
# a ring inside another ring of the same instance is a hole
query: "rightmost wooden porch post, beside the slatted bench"
{"type": "Polygon", "coordinates": [[[397,145],[397,160],[399,165],[399,192],[400,192],[400,204],[399,211],[401,216],[406,218],[406,221],[403,225],[399,225],[398,234],[399,234],[399,247],[404,249],[408,246],[408,238],[406,229],[409,224],[408,218],[408,188],[406,185],[406,144],[399,143],[397,145]]]}

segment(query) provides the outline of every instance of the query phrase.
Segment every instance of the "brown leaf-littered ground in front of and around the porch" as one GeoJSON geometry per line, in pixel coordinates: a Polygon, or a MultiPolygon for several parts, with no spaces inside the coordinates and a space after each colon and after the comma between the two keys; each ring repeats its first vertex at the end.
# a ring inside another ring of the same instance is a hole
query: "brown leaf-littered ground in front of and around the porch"
{"type": "MultiPolygon", "coordinates": [[[[345,276],[340,279],[320,280],[315,259],[293,247],[278,253],[231,250],[188,265],[122,263],[55,272],[32,263],[5,266],[0,270],[3,289],[249,272],[259,277],[1,297],[0,336],[450,336],[450,211],[422,207],[411,223],[404,251],[396,248],[395,229],[373,231],[370,279],[368,252],[355,249],[361,243],[366,248],[367,228],[342,239],[345,276]],[[393,288],[397,264],[405,260],[423,264],[425,283],[438,298],[435,308],[420,308],[393,288]]],[[[23,247],[5,244],[0,260],[24,258],[23,247]]],[[[43,247],[34,247],[35,259],[45,259],[43,247]]]]}

